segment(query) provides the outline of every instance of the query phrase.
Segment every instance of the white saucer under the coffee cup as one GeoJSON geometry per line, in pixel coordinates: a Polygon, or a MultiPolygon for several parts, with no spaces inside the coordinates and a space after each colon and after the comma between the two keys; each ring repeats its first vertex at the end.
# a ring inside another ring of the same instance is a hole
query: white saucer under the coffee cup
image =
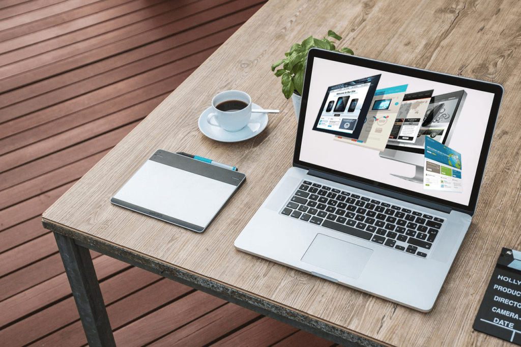
{"type": "MultiPolygon", "coordinates": [[[[252,108],[263,109],[261,106],[252,103],[252,108]]],[[[261,133],[268,125],[267,113],[253,113],[250,122],[239,131],[226,131],[221,127],[216,127],[208,123],[206,120],[208,115],[212,113],[212,107],[204,110],[199,117],[199,130],[207,137],[215,141],[221,142],[239,142],[253,138],[255,135],[261,133]]]]}

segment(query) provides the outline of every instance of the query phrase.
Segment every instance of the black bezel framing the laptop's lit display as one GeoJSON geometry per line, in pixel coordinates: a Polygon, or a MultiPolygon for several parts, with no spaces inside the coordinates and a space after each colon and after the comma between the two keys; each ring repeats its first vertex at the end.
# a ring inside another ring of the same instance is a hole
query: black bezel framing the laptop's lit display
{"type": "Polygon", "coordinates": [[[402,65],[396,65],[391,63],[386,63],[384,61],[378,61],[368,58],[362,58],[357,56],[352,56],[348,54],[336,53],[331,51],[325,51],[323,49],[312,48],[309,50],[307,61],[306,61],[306,71],[304,75],[304,88],[302,93],[302,101],[299,115],[299,124],[297,127],[296,140],[295,140],[295,150],[293,153],[293,166],[300,167],[303,169],[313,169],[321,172],[326,172],[334,176],[338,176],[341,178],[354,180],[356,182],[369,184],[378,190],[381,189],[381,193],[386,195],[385,191],[391,191],[393,193],[398,193],[402,196],[403,200],[407,199],[407,196],[414,196],[426,202],[431,202],[443,206],[449,206],[453,209],[460,210],[461,212],[468,213],[470,215],[474,214],[476,209],[476,204],[479,195],[479,188],[481,185],[481,181],[483,179],[483,173],[485,172],[485,165],[487,162],[488,153],[490,150],[490,144],[492,142],[492,135],[494,132],[495,122],[498,119],[499,108],[501,105],[501,98],[503,95],[503,87],[497,83],[472,80],[464,77],[445,75],[444,73],[422,70],[402,65]],[[415,78],[420,78],[424,80],[430,80],[440,83],[452,84],[456,86],[460,86],[462,88],[469,88],[480,90],[488,93],[494,94],[492,107],[490,110],[489,119],[487,122],[487,128],[485,131],[485,136],[483,137],[483,144],[481,147],[481,152],[479,155],[478,165],[476,168],[476,176],[474,178],[474,183],[472,187],[472,193],[470,193],[470,199],[468,205],[457,204],[448,200],[439,199],[436,197],[429,196],[427,194],[419,194],[410,190],[406,190],[403,188],[398,188],[390,184],[377,182],[374,180],[365,179],[363,177],[358,177],[355,175],[351,175],[349,173],[345,173],[338,170],[333,170],[330,168],[326,168],[323,166],[319,166],[312,163],[304,162],[300,160],[301,147],[302,147],[302,138],[304,133],[304,123],[306,118],[306,108],[307,108],[307,99],[309,96],[309,82],[311,81],[312,75],[312,66],[315,58],[321,58],[331,61],[337,61],[339,63],[351,64],[361,67],[366,67],[370,69],[381,70],[384,72],[392,72],[398,73],[404,76],[410,76],[415,78]]]}

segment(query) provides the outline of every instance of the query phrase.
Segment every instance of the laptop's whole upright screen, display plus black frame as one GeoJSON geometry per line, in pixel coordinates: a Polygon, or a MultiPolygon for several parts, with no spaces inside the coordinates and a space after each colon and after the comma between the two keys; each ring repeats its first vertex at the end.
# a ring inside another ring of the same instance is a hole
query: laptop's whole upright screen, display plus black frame
{"type": "Polygon", "coordinates": [[[312,49],[297,166],[473,211],[497,84],[312,49]]]}

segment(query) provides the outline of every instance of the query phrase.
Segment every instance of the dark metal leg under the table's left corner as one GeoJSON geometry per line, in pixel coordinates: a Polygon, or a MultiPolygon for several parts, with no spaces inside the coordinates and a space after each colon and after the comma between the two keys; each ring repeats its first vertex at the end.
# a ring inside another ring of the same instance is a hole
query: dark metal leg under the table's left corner
{"type": "Polygon", "coordinates": [[[71,238],[54,233],[89,346],[115,346],[91,254],[71,238]]]}

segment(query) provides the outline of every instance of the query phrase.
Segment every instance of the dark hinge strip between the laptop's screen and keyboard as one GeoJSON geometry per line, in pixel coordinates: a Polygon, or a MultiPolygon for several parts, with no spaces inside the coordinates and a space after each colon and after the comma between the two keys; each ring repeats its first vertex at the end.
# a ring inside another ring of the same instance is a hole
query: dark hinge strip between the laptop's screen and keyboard
{"type": "Polygon", "coordinates": [[[411,196],[411,195],[396,193],[396,192],[393,192],[393,191],[391,191],[389,189],[384,189],[384,188],[381,188],[381,187],[375,187],[374,185],[361,183],[361,182],[357,182],[357,181],[354,181],[354,180],[350,180],[348,178],[343,178],[343,177],[331,175],[330,173],[326,173],[326,172],[321,172],[321,171],[310,169],[307,172],[307,174],[309,176],[314,176],[314,177],[326,179],[326,180],[329,180],[329,181],[337,182],[337,183],[340,183],[340,184],[349,185],[350,187],[354,187],[354,188],[358,188],[358,189],[362,189],[362,190],[367,190],[369,192],[373,192],[373,193],[376,193],[376,194],[389,196],[389,197],[392,197],[393,199],[406,201],[406,202],[411,203],[411,204],[420,205],[420,206],[424,206],[424,207],[427,207],[427,208],[432,208],[432,209],[435,209],[435,210],[443,212],[443,213],[451,213],[451,210],[452,210],[452,207],[450,207],[450,206],[433,203],[433,202],[426,201],[426,200],[423,200],[423,199],[418,199],[417,197],[414,197],[414,196],[411,196]]]}

